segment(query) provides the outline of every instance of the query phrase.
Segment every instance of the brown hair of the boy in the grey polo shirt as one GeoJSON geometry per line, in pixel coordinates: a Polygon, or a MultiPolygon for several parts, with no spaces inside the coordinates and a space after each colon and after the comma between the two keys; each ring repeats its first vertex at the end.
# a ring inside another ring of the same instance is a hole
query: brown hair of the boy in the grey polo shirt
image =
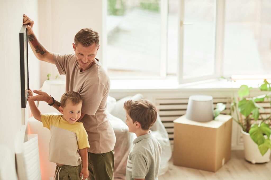
{"type": "Polygon", "coordinates": [[[124,108],[134,123],[137,121],[141,124],[143,130],[149,130],[156,121],[157,111],[149,100],[128,100],[124,103],[124,108]]]}

